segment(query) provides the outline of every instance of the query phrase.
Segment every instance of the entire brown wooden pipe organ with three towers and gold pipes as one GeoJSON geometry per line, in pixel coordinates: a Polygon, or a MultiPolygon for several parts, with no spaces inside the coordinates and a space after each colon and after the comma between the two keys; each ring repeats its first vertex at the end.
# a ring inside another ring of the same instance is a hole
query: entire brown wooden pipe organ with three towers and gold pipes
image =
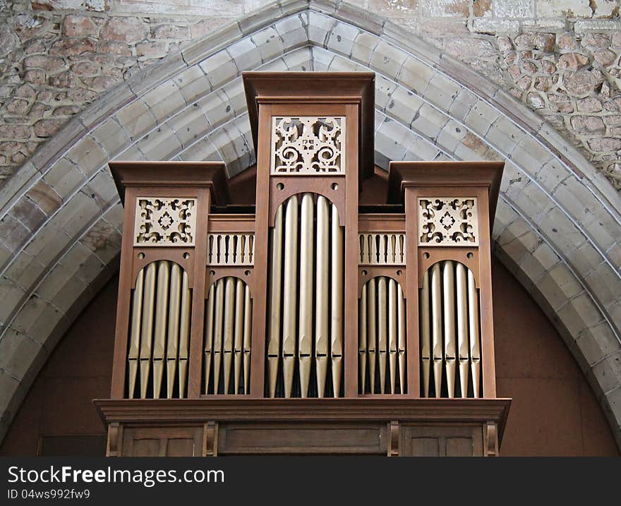
{"type": "Polygon", "coordinates": [[[125,206],[110,456],[498,455],[501,162],[392,162],[373,73],[243,74],[255,206],[221,162],[111,162],[125,206]]]}

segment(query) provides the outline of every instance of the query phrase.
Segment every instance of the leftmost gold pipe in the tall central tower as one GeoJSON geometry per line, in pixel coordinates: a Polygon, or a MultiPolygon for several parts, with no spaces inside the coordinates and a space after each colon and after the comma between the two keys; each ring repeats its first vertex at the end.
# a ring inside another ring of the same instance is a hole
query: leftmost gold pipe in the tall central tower
{"type": "Polygon", "coordinates": [[[280,357],[280,296],[282,290],[282,205],[278,207],[274,227],[270,231],[270,301],[267,335],[267,375],[270,397],[276,396],[278,361],[280,357]]]}

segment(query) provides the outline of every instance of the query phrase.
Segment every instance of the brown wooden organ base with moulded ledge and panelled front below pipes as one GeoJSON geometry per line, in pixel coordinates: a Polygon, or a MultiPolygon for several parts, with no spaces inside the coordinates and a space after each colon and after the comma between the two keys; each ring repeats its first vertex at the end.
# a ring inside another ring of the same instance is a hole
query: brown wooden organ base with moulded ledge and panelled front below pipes
{"type": "Polygon", "coordinates": [[[95,399],[113,456],[498,455],[510,404],[511,399],[95,399]]]}

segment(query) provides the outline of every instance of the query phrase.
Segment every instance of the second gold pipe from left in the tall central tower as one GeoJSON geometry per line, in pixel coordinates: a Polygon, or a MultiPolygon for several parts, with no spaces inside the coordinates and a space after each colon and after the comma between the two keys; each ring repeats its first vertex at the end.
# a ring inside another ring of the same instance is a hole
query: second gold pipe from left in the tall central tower
{"type": "Polygon", "coordinates": [[[298,267],[298,197],[287,200],[284,217],[284,307],[282,315],[282,368],[284,397],[291,397],[296,355],[296,308],[298,267]]]}

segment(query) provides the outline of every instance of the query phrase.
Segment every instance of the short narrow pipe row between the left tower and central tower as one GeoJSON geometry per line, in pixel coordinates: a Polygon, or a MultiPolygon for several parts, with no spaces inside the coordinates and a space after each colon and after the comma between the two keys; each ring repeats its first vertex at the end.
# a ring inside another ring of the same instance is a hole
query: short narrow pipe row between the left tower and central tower
{"type": "Polygon", "coordinates": [[[251,328],[248,285],[232,276],[218,279],[205,301],[203,393],[250,392],[251,328]]]}

